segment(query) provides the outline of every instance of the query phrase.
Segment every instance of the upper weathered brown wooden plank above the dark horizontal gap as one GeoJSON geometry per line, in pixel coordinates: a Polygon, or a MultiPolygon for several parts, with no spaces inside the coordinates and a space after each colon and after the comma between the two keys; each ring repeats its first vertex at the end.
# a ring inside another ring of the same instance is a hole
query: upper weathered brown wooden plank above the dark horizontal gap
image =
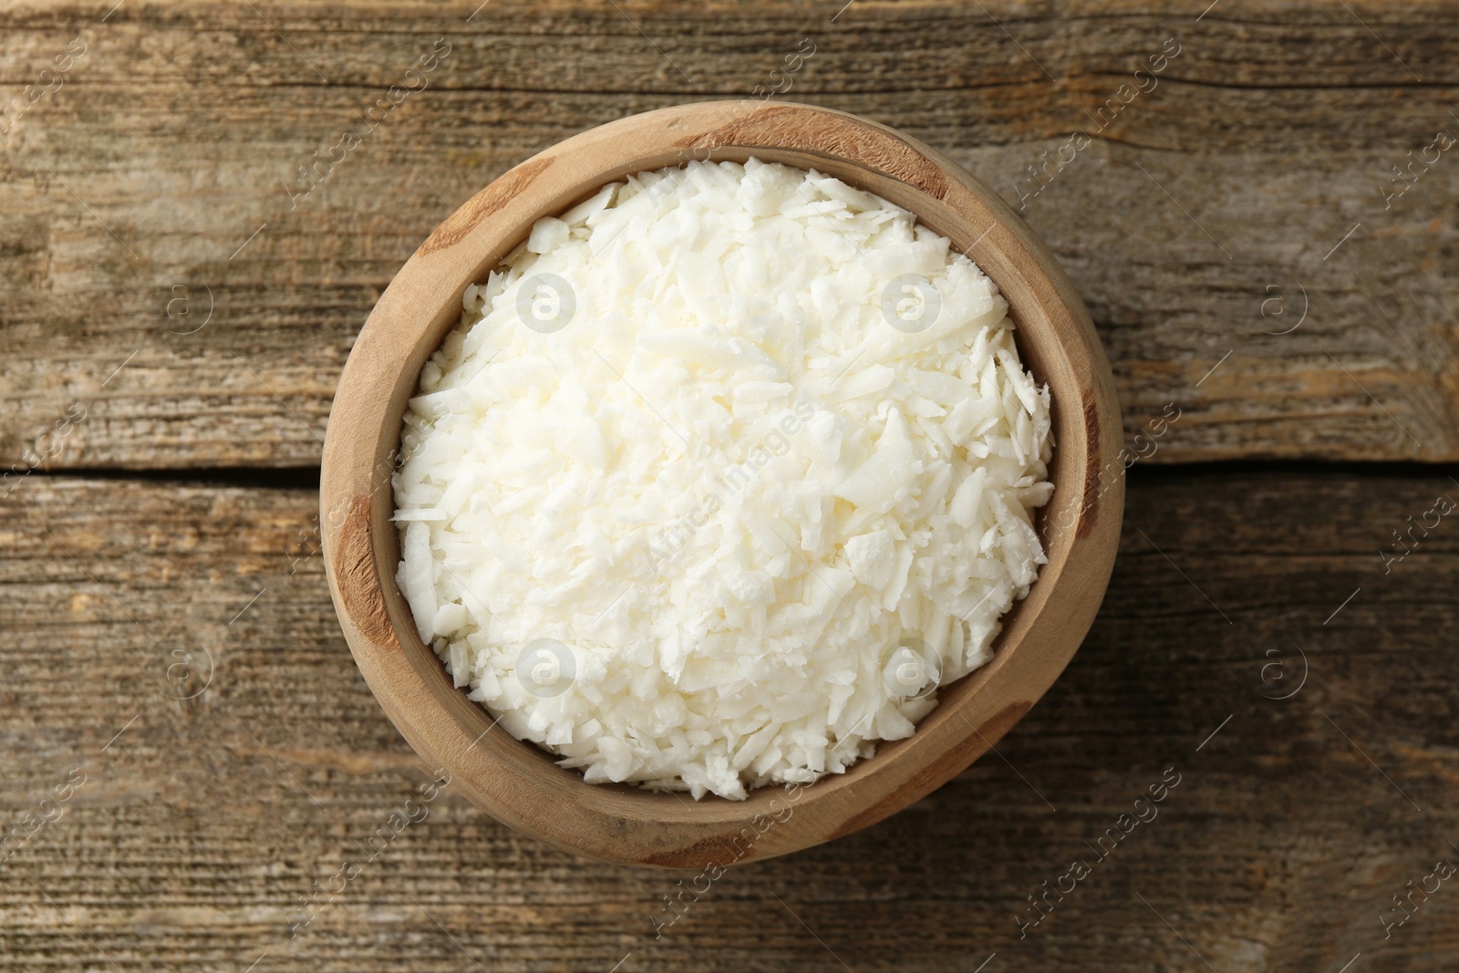
{"type": "Polygon", "coordinates": [[[1450,6],[6,6],[0,92],[54,90],[0,133],[0,460],[315,464],[360,322],[448,213],[572,133],[748,96],[802,38],[791,98],[1030,194],[1126,435],[1183,410],[1154,462],[1459,457],[1459,165],[1382,191],[1459,136],[1450,6]],[[1153,90],[1100,128],[1172,36],[1153,90]],[[436,38],[427,88],[299,197],[299,166],[363,131],[436,38]],[[1032,195],[1029,166],[1075,130],[1091,144],[1032,195]],[[36,448],[77,401],[86,422],[36,448]]]}

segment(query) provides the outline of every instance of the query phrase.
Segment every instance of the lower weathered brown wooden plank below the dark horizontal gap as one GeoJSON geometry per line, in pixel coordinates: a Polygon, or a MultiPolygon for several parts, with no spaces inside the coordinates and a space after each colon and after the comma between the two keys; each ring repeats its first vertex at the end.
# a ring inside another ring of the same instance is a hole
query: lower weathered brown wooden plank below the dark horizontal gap
{"type": "Polygon", "coordinates": [[[1453,473],[1137,465],[1100,617],[998,757],[865,831],[730,869],[661,939],[674,875],[554,852],[449,788],[368,861],[430,767],[349,658],[308,556],[312,489],[31,476],[0,505],[6,833],[86,778],[0,865],[0,969],[236,972],[267,951],[255,973],[862,973],[996,951],[989,973],[1083,973],[1204,969],[1193,947],[1221,973],[1357,953],[1449,970],[1452,884],[1388,941],[1379,915],[1456,856],[1459,528],[1386,576],[1379,550],[1459,497],[1453,473]],[[203,667],[169,678],[172,651],[198,645],[212,683],[175,700],[203,667]],[[1300,675],[1294,645],[1303,689],[1265,699],[1300,675]],[[1274,659],[1285,684],[1262,681],[1274,659]],[[1026,896],[1094,861],[1084,842],[1167,767],[1158,817],[1020,941],[1026,896]],[[346,859],[359,875],[290,938],[298,897],[346,859]]]}

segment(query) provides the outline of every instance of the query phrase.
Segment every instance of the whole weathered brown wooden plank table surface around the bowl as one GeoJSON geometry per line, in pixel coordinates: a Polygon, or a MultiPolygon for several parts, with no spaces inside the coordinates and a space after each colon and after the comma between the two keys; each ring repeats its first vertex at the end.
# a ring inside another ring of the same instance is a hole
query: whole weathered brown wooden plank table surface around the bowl
{"type": "Polygon", "coordinates": [[[1452,0],[111,3],[0,6],[0,969],[1455,969],[1452,0]],[[430,767],[340,636],[320,446],[446,213],[585,127],[783,88],[807,38],[783,96],[1021,200],[1126,433],[1180,419],[996,756],[655,938],[689,875],[449,788],[391,827],[430,767]]]}

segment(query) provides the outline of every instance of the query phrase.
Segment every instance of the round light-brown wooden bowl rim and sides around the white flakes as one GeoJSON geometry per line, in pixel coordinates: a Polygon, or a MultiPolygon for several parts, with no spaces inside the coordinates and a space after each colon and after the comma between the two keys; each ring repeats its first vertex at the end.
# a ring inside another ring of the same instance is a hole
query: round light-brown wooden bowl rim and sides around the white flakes
{"type": "Polygon", "coordinates": [[[321,524],[330,592],[355,661],[385,713],[471,802],[588,858],[671,868],[727,867],[849,834],[893,814],[982,756],[1074,655],[1115,562],[1123,509],[1115,384],[1078,293],[1053,255],[988,187],[891,128],[795,104],[700,102],[573,136],[511,169],[452,213],[406,263],[365,322],[334,397],[321,524]],[[585,783],[531,743],[487,732],[454,689],[395,586],[400,546],[390,474],[422,365],[484,280],[541,216],[632,172],[748,156],[818,169],[916,213],[992,277],[1024,365],[1053,397],[1049,563],[1004,619],[994,659],[940,690],[916,732],[877,744],[843,775],[746,801],[585,783]]]}

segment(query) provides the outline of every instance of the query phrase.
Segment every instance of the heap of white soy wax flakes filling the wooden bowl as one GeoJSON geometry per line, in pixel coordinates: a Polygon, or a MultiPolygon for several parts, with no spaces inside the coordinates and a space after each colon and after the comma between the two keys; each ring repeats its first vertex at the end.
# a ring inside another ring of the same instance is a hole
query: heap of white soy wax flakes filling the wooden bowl
{"type": "Polygon", "coordinates": [[[420,637],[592,783],[842,773],[992,658],[1046,563],[1049,392],[913,214],[756,159],[538,220],[422,369],[420,637]]]}

